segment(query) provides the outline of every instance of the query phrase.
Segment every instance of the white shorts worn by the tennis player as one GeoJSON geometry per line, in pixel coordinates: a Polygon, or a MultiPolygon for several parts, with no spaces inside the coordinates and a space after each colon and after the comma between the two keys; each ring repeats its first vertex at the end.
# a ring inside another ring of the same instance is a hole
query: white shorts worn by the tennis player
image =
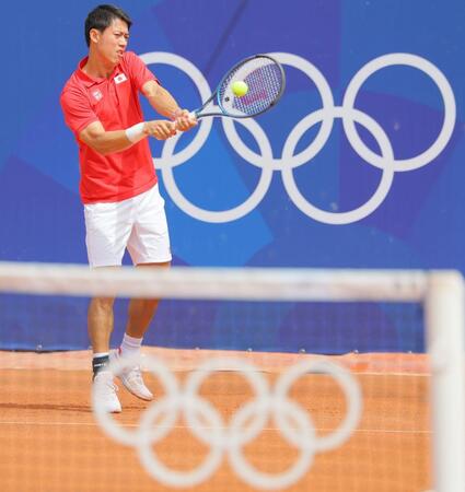
{"type": "Polygon", "coordinates": [[[164,203],[155,185],[127,200],[84,204],[90,266],[120,266],[126,248],[135,265],[171,261],[164,203]]]}

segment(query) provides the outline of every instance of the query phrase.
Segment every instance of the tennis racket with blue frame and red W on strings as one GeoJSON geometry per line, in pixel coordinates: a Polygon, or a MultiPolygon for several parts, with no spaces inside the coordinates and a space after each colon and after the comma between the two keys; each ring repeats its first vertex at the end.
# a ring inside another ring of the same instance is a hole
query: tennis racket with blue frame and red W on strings
{"type": "Polygon", "coordinates": [[[207,116],[251,118],[271,109],[282,96],[286,74],[282,66],[268,55],[254,55],[236,63],[222,78],[217,90],[197,109],[193,119],[207,116]],[[233,92],[234,82],[245,82],[248,91],[243,96],[233,92]]]}

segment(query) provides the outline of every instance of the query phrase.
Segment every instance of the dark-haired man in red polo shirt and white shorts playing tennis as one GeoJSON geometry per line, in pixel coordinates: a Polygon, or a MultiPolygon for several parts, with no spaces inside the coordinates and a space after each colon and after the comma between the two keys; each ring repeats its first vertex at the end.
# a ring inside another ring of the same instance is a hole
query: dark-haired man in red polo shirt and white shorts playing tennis
{"type": "MultiPolygon", "coordinates": [[[[126,51],[131,21],[119,8],[98,5],[85,20],[89,56],[66,83],[60,103],[79,145],[80,194],[91,267],[121,265],[127,248],[137,267],[167,267],[170,237],[164,201],[147,137],[165,140],[196,125],[133,52],[126,51]],[[139,92],[167,119],[144,121],[139,92]]],[[[158,300],[131,300],[120,348],[109,354],[114,298],[89,305],[95,395],[120,412],[109,358],[137,356],[158,300]]],[[[139,398],[153,398],[139,365],[119,376],[139,398]]]]}

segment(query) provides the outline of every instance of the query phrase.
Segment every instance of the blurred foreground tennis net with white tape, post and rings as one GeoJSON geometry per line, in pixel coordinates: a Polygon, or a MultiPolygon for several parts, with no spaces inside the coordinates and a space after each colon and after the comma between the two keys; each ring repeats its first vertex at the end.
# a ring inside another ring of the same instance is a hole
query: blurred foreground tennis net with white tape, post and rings
{"type": "Polygon", "coordinates": [[[463,490],[455,272],[0,263],[0,292],[2,491],[463,490]],[[163,298],[155,399],[121,388],[117,417],[92,407],[94,295],[120,298],[114,347],[125,298],[163,298]]]}

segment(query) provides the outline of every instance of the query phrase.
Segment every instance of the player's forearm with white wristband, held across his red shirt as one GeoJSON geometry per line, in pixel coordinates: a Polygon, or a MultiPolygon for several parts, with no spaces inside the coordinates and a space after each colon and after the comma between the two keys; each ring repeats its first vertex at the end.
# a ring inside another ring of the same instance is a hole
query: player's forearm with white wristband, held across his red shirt
{"type": "Polygon", "coordinates": [[[144,121],[130,129],[114,131],[105,131],[101,121],[94,121],[79,133],[79,138],[94,151],[106,155],[129,149],[146,137],[166,140],[173,134],[176,134],[176,129],[167,120],[144,121]]]}

